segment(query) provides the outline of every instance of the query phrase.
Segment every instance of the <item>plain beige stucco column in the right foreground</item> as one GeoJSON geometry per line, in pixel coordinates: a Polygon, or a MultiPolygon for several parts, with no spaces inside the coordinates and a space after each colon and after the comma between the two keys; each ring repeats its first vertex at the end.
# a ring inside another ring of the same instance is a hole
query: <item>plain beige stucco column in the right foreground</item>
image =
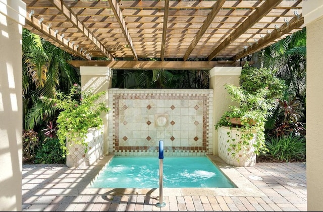
{"type": "Polygon", "coordinates": [[[323,210],[323,1],[303,2],[306,24],[306,178],[307,211],[323,210]]]}

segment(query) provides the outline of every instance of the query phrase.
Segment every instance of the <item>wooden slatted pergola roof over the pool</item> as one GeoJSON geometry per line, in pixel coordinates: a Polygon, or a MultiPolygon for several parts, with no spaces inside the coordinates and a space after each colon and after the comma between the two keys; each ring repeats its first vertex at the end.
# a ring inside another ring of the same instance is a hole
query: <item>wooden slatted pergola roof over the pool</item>
{"type": "Polygon", "coordinates": [[[304,27],[302,0],[23,1],[25,28],[82,57],[75,66],[239,65],[304,27]]]}

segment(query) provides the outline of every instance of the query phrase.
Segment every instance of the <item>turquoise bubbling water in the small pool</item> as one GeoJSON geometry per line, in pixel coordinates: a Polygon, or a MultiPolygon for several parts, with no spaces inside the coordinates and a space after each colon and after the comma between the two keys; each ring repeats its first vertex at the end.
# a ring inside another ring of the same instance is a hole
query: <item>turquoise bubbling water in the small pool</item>
{"type": "MultiPolygon", "coordinates": [[[[158,157],[115,156],[91,188],[159,188],[158,157]]],[[[235,188],[207,157],[165,157],[164,188],[235,188]]]]}

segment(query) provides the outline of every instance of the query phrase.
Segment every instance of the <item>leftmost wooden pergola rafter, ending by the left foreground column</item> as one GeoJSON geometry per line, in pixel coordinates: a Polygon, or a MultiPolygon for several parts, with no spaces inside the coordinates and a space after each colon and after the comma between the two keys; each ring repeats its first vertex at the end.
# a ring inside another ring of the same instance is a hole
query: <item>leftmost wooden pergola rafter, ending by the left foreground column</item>
{"type": "Polygon", "coordinates": [[[80,51],[76,45],[73,45],[72,42],[69,42],[67,39],[65,39],[64,36],[50,29],[48,26],[46,26],[40,20],[34,18],[32,14],[28,12],[27,12],[27,17],[25,18],[25,22],[26,24],[32,26],[34,29],[38,30],[39,32],[47,36],[48,38],[62,45],[65,48],[65,50],[73,54],[76,53],[78,56],[84,59],[89,59],[89,60],[91,59],[83,51],[80,51]]]}

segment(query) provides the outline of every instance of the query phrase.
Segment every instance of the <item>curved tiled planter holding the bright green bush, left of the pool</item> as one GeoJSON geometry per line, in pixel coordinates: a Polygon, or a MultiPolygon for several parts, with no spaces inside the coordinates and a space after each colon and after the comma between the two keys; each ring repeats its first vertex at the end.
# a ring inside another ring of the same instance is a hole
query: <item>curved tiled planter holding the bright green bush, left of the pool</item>
{"type": "MultiPolygon", "coordinates": [[[[67,140],[69,140],[68,137],[67,140]]],[[[73,143],[70,146],[71,143],[67,142],[69,154],[66,156],[66,165],[68,167],[90,166],[103,156],[103,128],[89,128],[85,142],[88,142],[86,154],[84,147],[73,143]]]]}

